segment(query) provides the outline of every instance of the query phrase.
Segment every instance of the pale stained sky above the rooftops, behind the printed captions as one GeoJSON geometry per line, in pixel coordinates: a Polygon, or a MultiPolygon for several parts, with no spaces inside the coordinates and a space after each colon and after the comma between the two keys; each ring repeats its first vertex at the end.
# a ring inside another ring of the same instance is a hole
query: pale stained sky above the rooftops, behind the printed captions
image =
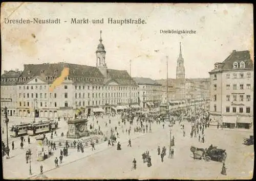
{"type": "Polygon", "coordinates": [[[186,78],[209,77],[215,62],[232,50],[250,50],[253,60],[253,6],[249,4],[5,3],[1,6],[2,72],[24,64],[67,62],[95,66],[100,30],[110,69],[133,77],[176,77],[181,42],[186,78]],[[60,24],[10,24],[13,19],[56,19],[60,24]],[[89,24],[71,24],[88,18],[89,24]],[[92,19],[104,19],[93,24],[92,19]],[[109,24],[144,19],[146,24],[109,24]],[[67,21],[66,23],[64,21],[67,21]],[[161,34],[194,30],[196,34],[161,34]]]}

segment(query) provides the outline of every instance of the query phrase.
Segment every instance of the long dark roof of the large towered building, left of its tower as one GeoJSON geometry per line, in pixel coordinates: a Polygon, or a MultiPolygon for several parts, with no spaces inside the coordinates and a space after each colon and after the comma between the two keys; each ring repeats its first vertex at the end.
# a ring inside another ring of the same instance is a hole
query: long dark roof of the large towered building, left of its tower
{"type": "MultiPolygon", "coordinates": [[[[69,68],[69,77],[72,79],[73,77],[88,77],[88,78],[98,78],[104,79],[104,76],[99,71],[97,67],[87,66],[87,65],[78,65],[71,63],[43,63],[43,64],[25,64],[24,71],[20,77],[35,77],[39,76],[42,80],[46,80],[46,77],[55,76],[59,77],[61,75],[61,71],[64,68],[69,68]],[[43,73],[41,71],[44,71],[43,73]]],[[[52,81],[48,82],[53,82],[52,81]]],[[[76,82],[76,80],[73,80],[76,82]]],[[[26,83],[26,82],[19,82],[26,83]]]]}

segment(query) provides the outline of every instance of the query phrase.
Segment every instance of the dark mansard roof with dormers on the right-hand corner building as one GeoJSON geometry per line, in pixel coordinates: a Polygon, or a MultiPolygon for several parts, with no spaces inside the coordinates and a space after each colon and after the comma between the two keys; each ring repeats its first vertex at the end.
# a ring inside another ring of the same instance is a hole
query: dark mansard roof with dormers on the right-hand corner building
{"type": "MultiPolygon", "coordinates": [[[[218,64],[217,70],[233,69],[234,62],[240,63],[242,61],[245,63],[245,68],[253,68],[253,62],[250,58],[249,50],[245,50],[245,51],[233,50],[232,53],[223,62],[216,63],[216,64],[218,64]]],[[[241,69],[241,68],[236,68],[236,69],[241,69]]],[[[216,69],[211,70],[211,71],[216,71],[216,69]]]]}

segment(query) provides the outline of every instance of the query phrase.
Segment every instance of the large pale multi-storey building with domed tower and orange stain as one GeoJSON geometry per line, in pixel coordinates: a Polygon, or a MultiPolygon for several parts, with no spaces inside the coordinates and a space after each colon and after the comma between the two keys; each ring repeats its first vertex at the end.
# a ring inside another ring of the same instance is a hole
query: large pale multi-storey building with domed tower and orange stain
{"type": "Polygon", "coordinates": [[[99,41],[96,67],[70,63],[24,65],[16,85],[18,115],[51,119],[73,116],[78,109],[84,114],[110,113],[118,105],[127,108],[137,104],[138,85],[126,70],[106,67],[101,36],[99,41]],[[64,69],[68,69],[68,76],[59,86],[51,87],[64,69]]]}

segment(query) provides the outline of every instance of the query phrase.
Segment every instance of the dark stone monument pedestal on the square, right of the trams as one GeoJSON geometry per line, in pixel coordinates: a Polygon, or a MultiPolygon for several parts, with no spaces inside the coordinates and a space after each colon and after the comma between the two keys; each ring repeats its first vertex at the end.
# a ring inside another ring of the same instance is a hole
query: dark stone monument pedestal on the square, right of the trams
{"type": "Polygon", "coordinates": [[[87,122],[88,120],[86,118],[69,120],[67,138],[78,139],[84,136],[89,136],[87,122]]]}

